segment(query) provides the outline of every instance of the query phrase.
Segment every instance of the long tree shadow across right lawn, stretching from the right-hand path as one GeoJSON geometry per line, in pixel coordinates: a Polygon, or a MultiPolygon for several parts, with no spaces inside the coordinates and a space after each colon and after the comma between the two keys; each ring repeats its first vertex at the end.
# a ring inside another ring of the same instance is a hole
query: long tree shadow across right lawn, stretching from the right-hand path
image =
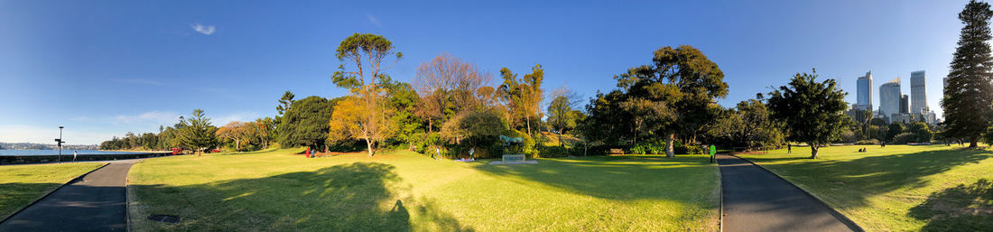
{"type": "Polygon", "coordinates": [[[797,183],[824,184],[829,189],[820,189],[821,192],[818,192],[824,197],[840,198],[852,206],[865,206],[868,205],[867,198],[870,196],[902,187],[921,187],[927,184],[924,177],[928,175],[940,174],[956,166],[979,163],[991,157],[993,156],[985,151],[940,150],[865,157],[851,161],[811,160],[763,166],[797,183]],[[828,192],[823,192],[824,190],[828,192]]]}

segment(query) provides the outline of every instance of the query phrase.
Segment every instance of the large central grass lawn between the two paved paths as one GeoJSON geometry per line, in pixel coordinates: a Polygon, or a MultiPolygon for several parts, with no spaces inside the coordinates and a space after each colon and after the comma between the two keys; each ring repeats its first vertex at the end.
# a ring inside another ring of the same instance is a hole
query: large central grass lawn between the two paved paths
{"type": "Polygon", "coordinates": [[[434,161],[287,150],[146,160],[129,175],[138,231],[714,231],[703,156],[434,161]],[[182,217],[179,224],[146,220],[182,217]]]}

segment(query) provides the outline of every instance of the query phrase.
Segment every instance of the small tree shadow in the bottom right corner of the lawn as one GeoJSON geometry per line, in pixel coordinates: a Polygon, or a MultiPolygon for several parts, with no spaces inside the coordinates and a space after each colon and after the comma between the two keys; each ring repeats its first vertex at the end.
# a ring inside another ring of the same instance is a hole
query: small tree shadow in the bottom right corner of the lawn
{"type": "Polygon", "coordinates": [[[924,231],[993,231],[993,181],[982,178],[933,192],[908,214],[927,220],[924,231]]]}

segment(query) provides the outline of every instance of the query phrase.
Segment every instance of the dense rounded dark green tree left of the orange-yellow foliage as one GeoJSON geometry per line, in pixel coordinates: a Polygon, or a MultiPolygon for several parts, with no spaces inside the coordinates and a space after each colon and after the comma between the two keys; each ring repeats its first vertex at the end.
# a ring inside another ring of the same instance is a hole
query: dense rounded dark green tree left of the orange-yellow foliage
{"type": "Polygon", "coordinates": [[[319,96],[293,102],[279,123],[279,144],[284,148],[323,148],[328,140],[328,122],[334,106],[333,101],[319,96]]]}

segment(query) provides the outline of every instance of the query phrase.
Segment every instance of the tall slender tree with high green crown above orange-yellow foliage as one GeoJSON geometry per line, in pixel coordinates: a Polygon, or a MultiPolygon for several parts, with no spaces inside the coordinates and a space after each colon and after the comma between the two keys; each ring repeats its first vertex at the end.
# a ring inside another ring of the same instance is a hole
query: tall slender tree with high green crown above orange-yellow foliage
{"type": "MultiPolygon", "coordinates": [[[[393,57],[394,64],[403,58],[403,54],[393,51],[393,43],[386,38],[373,34],[358,34],[346,38],[338,46],[335,56],[343,61],[339,65],[339,70],[335,71],[332,81],[339,87],[348,88],[358,100],[362,101],[363,113],[359,119],[361,135],[365,140],[369,157],[374,154],[373,148],[377,142],[384,140],[389,132],[393,131],[393,125],[389,123],[390,112],[393,112],[383,102],[383,95],[386,89],[378,83],[387,77],[382,72],[388,66],[382,66],[385,58],[393,57]],[[355,70],[347,70],[344,62],[355,64],[355,70]]],[[[325,121],[328,124],[330,121],[325,121]]]]}

